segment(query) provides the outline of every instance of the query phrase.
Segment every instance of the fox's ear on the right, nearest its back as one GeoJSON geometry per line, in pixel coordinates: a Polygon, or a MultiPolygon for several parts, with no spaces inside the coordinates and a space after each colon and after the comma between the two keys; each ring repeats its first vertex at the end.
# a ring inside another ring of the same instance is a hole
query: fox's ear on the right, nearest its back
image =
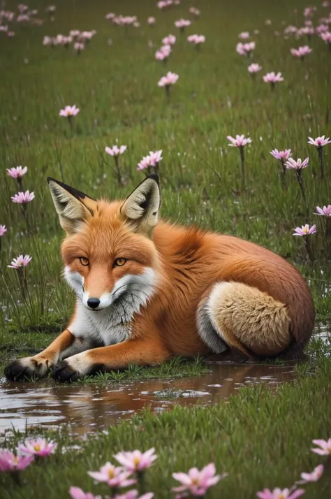
{"type": "Polygon", "coordinates": [[[158,175],[150,175],[126,198],[119,209],[119,218],[131,230],[149,236],[158,222],[160,208],[158,175]]]}

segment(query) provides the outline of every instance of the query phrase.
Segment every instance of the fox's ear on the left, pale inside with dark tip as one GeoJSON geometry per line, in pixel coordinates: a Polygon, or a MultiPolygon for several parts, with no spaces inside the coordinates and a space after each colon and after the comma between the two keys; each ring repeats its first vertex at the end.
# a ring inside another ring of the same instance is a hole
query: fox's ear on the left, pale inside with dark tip
{"type": "Polygon", "coordinates": [[[62,229],[68,236],[79,232],[82,224],[93,217],[96,201],[54,178],[48,177],[47,182],[62,229]]]}

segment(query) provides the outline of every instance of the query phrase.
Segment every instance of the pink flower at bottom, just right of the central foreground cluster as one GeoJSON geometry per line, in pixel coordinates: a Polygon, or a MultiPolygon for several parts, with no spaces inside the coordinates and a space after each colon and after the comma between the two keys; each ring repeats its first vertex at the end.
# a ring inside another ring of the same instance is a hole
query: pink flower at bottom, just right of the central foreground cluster
{"type": "Polygon", "coordinates": [[[172,473],[172,477],[182,484],[179,487],[173,487],[172,491],[189,491],[193,496],[205,496],[211,486],[217,484],[219,480],[226,476],[215,475],[215,473],[214,463],[209,463],[202,470],[191,468],[187,474],[182,472],[172,473]]]}

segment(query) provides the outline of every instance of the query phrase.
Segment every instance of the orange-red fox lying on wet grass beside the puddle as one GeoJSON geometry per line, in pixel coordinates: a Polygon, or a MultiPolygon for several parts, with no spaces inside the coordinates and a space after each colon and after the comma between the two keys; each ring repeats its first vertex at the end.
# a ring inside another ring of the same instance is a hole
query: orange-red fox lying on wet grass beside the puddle
{"type": "Polygon", "coordinates": [[[223,361],[302,359],[314,328],[307,282],[267,248],[160,219],[159,177],[124,201],[96,201],[47,178],[59,223],[64,278],[75,293],[66,329],[7,379],[73,382],[173,356],[223,361]]]}

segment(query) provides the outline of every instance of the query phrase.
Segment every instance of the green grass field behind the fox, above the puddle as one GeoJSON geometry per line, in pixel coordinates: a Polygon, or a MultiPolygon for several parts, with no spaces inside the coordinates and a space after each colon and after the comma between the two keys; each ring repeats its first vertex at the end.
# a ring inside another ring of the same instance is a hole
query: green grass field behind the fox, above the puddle
{"type": "MultiPolygon", "coordinates": [[[[140,18],[140,28],[125,32],[105,20],[103,2],[96,1],[91,8],[82,1],[78,8],[68,0],[57,6],[54,22],[47,19],[41,27],[15,26],[14,38],[3,36],[0,212],[8,232],[1,238],[2,331],[9,326],[22,330],[65,322],[73,309],[73,296],[61,279],[63,233],[47,189],[47,175],[61,178],[62,172],[69,185],[91,196],[123,198],[143,178],[135,169],[138,161],[156,149],[163,150],[163,217],[234,234],[278,252],[309,280],[318,318],[328,317],[330,238],[326,220],[313,213],[316,205],[330,203],[330,153],[325,147],[325,179],[321,181],[313,176],[313,169],[318,171],[318,154],[307,144],[307,136],[328,131],[328,48],[318,36],[313,37],[313,52],[302,64],[290,56],[290,47],[299,41],[274,35],[275,30],[284,29],[283,20],[302,23],[293,8],[301,12],[303,1],[295,0],[291,6],[286,0],[274,6],[260,1],[252,13],[244,0],[226,7],[211,0],[201,6],[200,19],[187,30],[187,34],[207,35],[197,52],[173,25],[178,17],[187,17],[188,6],[182,3],[159,12],[154,1],[140,2],[138,11],[135,2],[127,1],[124,6],[115,1],[115,11],[136,11],[140,18]],[[157,17],[154,28],[144,21],[151,13],[157,17]],[[268,17],[272,26],[264,24],[268,17]],[[80,57],[72,50],[42,45],[45,35],[92,25],[97,34],[80,57]],[[256,28],[260,33],[253,37],[254,62],[263,71],[282,71],[285,78],[274,92],[260,74],[256,82],[251,80],[248,60],[235,52],[237,34],[256,28]],[[177,34],[177,45],[165,68],[154,60],[154,50],[168,32],[177,34]],[[149,39],[153,49],[147,45],[149,39]],[[170,103],[157,86],[166,70],[179,74],[170,103]],[[69,103],[80,108],[73,131],[59,117],[59,109],[69,103]],[[246,149],[245,190],[240,189],[239,154],[226,140],[235,133],[249,134],[253,141],[246,149]],[[105,145],[116,140],[128,146],[121,157],[125,187],[117,186],[112,158],[104,153],[105,145]],[[311,158],[303,172],[308,212],[293,171],[288,171],[287,189],[281,188],[279,164],[270,155],[274,147],[290,147],[293,157],[311,158]],[[23,188],[36,194],[27,206],[33,236],[25,233],[20,206],[10,202],[17,185],[6,175],[6,168],[18,164],[29,168],[23,188]],[[293,228],[305,223],[318,225],[318,233],[311,236],[314,263],[307,261],[302,239],[292,236],[293,228]],[[22,303],[15,270],[6,267],[21,253],[33,257],[27,267],[26,303],[22,303]]],[[[41,12],[43,6],[36,1],[41,12]]],[[[321,8],[318,15],[322,14],[321,8]]]]}

